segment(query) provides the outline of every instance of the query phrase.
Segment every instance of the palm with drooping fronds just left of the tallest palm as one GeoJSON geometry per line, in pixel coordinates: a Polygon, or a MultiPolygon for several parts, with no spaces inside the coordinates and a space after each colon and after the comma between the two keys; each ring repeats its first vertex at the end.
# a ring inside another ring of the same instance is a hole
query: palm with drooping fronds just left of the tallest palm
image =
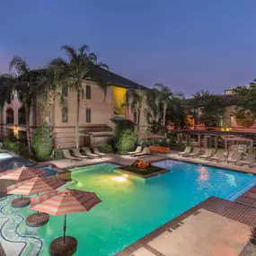
{"type": "Polygon", "coordinates": [[[49,119],[51,132],[53,131],[54,116],[53,106],[56,101],[61,107],[66,106],[66,97],[62,93],[66,89],[66,80],[60,69],[47,67],[42,71],[39,81],[39,97],[44,112],[48,111],[46,116],[49,119]]]}

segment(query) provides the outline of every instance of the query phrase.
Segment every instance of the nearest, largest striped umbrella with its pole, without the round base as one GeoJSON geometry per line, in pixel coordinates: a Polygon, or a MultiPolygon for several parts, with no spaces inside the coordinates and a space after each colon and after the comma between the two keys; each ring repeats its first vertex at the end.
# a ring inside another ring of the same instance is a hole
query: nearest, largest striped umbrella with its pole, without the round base
{"type": "Polygon", "coordinates": [[[63,243],[65,243],[66,214],[87,212],[101,201],[93,192],[66,189],[51,191],[31,199],[31,210],[38,210],[54,216],[64,214],[63,243]]]}

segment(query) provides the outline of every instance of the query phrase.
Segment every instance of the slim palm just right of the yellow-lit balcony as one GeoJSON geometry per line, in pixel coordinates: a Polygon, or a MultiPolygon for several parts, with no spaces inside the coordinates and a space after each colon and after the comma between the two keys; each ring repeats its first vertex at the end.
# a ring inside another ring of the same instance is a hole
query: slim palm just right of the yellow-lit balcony
{"type": "Polygon", "coordinates": [[[131,109],[137,112],[137,140],[139,136],[139,125],[142,108],[146,102],[146,93],[141,91],[128,91],[127,92],[128,105],[131,109]]]}

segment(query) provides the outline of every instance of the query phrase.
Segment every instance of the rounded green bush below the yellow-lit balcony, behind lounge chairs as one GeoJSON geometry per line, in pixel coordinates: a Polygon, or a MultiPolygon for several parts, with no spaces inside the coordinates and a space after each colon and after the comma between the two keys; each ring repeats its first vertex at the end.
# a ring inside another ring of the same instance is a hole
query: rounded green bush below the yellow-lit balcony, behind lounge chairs
{"type": "Polygon", "coordinates": [[[117,150],[118,154],[127,154],[128,151],[134,149],[137,136],[136,132],[132,128],[124,128],[119,132],[117,137],[117,150]]]}

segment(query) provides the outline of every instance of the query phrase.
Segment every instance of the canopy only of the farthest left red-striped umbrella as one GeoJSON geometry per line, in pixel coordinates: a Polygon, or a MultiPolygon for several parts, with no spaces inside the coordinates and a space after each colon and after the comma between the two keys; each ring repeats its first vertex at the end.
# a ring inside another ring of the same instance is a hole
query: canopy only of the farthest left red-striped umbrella
{"type": "Polygon", "coordinates": [[[37,176],[43,176],[47,172],[32,168],[32,167],[21,167],[6,172],[0,173],[0,179],[2,180],[13,180],[13,181],[25,181],[37,176]]]}

